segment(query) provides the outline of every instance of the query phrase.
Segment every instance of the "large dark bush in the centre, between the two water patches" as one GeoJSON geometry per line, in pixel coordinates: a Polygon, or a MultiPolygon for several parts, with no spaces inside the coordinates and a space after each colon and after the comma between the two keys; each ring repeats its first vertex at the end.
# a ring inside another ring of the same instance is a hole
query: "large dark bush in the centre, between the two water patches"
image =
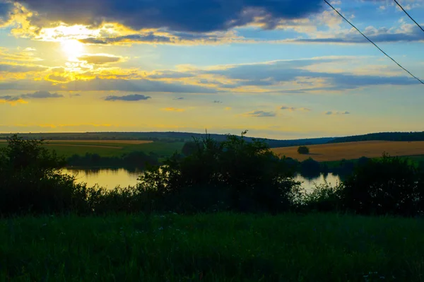
{"type": "Polygon", "coordinates": [[[288,210],[300,183],[293,180],[285,161],[272,153],[266,143],[247,142],[245,134],[246,131],[241,137],[229,135],[223,142],[208,135],[195,139],[191,155],[184,158],[175,154],[163,167],[148,170],[140,178],[139,187],[153,187],[163,201],[173,199],[182,210],[197,207],[207,211],[222,203],[235,211],[288,210]],[[194,191],[197,196],[187,197],[194,191]],[[201,196],[214,191],[220,196],[213,202],[209,196],[201,196]]]}

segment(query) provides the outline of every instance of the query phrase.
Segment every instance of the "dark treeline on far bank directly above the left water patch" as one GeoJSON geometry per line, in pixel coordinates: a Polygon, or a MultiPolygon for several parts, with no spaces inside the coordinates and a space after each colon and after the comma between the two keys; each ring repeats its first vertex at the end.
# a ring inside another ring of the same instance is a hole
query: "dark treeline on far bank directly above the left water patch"
{"type": "Polygon", "coordinates": [[[72,155],[66,159],[66,164],[87,168],[146,168],[146,165],[158,165],[158,155],[154,153],[131,152],[121,157],[102,157],[95,153],[72,155]]]}

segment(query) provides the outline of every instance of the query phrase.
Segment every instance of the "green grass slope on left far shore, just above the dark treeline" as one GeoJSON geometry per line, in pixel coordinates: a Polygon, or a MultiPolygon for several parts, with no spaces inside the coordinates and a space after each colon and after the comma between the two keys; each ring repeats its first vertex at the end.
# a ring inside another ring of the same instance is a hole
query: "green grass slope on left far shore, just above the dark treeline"
{"type": "MultiPolygon", "coordinates": [[[[143,151],[145,153],[153,152],[158,154],[159,156],[170,156],[172,155],[172,153],[175,153],[175,151],[181,151],[182,146],[184,146],[184,143],[182,142],[168,143],[162,141],[144,144],[84,143],[83,141],[81,141],[69,144],[78,146],[60,146],[52,144],[49,145],[48,148],[57,151],[59,155],[64,155],[65,157],[69,157],[73,154],[85,155],[86,153],[97,153],[102,157],[119,157],[124,153],[130,153],[133,151],[143,151]],[[114,146],[122,148],[93,147],[95,145],[114,146]]],[[[0,143],[0,148],[4,148],[6,146],[6,143],[0,143]]]]}

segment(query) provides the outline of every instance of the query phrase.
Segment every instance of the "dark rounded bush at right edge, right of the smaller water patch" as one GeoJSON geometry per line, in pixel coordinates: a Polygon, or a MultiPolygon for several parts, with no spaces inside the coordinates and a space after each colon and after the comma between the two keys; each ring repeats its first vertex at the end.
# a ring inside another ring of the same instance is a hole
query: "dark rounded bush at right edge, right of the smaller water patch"
{"type": "Polygon", "coordinates": [[[408,160],[384,154],[356,168],[343,183],[343,205],[362,214],[421,213],[423,178],[408,160]]]}

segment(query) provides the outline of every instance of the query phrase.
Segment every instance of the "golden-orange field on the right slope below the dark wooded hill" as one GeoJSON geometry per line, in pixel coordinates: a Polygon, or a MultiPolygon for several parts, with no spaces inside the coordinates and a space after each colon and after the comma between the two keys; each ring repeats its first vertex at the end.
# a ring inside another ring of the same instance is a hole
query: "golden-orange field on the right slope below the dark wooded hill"
{"type": "Polygon", "coordinates": [[[278,155],[295,158],[300,161],[313,158],[319,162],[331,160],[354,160],[362,156],[367,158],[378,158],[385,151],[392,156],[402,155],[424,155],[424,141],[364,141],[349,143],[331,143],[307,146],[310,148],[309,155],[300,155],[298,146],[273,148],[272,151],[278,155]]]}

